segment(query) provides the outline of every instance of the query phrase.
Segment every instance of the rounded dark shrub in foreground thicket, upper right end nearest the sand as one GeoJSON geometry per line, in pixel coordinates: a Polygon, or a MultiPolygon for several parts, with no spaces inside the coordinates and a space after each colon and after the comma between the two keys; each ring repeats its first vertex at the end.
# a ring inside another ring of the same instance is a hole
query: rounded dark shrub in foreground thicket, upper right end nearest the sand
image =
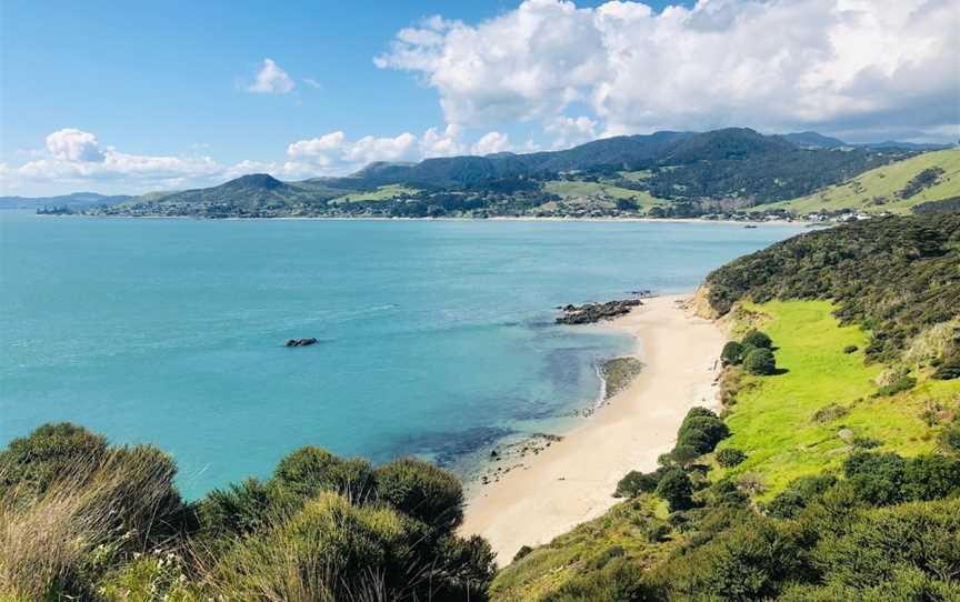
{"type": "Polygon", "coordinates": [[[377,494],[399,511],[452,531],[463,520],[463,489],[447,471],[414,458],[394,460],[376,470],[377,494]]]}

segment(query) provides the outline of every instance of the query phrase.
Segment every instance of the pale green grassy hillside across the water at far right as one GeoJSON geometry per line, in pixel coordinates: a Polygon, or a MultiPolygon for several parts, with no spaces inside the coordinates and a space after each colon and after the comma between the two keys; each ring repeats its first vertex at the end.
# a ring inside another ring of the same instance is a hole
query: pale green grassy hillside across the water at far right
{"type": "Polygon", "coordinates": [[[813,194],[763,204],[753,211],[786,209],[794,213],[811,213],[822,210],[852,209],[867,213],[889,211],[909,213],[910,208],[928,201],[938,201],[960,195],[960,148],[924,152],[910,159],[872,169],[857,178],[826,188],[813,194]],[[918,194],[902,199],[899,193],[907,183],[924,169],[939,167],[943,170],[939,181],[918,194]],[[883,199],[882,204],[874,199],[883,199]]]}

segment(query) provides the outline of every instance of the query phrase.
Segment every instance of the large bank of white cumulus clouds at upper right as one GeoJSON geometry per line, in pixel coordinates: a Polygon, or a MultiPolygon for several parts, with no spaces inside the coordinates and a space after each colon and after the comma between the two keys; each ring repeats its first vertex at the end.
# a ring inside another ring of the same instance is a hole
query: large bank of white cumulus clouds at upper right
{"type": "Polygon", "coordinates": [[[742,124],[870,138],[882,124],[937,138],[960,121],[958,19],[956,0],[700,0],[660,12],[528,0],[478,24],[428,19],[374,62],[422,76],[448,122],[541,120],[561,143],[577,127],[557,122],[571,106],[607,134],[742,124]]]}

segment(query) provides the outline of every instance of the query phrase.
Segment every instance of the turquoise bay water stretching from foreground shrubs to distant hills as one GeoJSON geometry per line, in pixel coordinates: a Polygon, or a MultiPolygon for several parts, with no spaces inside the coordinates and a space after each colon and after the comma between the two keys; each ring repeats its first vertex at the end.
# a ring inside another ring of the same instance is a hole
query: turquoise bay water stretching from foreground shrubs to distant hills
{"type": "Polygon", "coordinates": [[[0,444],[60,420],[154,443],[188,496],[308,443],[450,464],[558,428],[632,348],[556,305],[691,290],[799,231],[0,211],[0,444]]]}

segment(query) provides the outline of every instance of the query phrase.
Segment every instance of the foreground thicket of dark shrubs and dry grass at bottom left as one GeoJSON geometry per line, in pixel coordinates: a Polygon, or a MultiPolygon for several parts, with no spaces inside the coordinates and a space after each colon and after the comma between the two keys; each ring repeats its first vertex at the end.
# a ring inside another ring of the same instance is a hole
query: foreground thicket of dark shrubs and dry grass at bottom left
{"type": "Polygon", "coordinates": [[[47,424],[0,452],[0,600],[483,600],[493,554],[419,460],[317,448],[184,502],[160,450],[47,424]]]}

